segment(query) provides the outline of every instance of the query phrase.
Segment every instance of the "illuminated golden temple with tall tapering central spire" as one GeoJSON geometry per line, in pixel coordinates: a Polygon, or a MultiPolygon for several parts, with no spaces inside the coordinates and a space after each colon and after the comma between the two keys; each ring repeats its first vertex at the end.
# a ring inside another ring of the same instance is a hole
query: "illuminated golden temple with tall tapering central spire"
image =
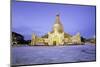
{"type": "Polygon", "coordinates": [[[52,31],[42,37],[32,34],[31,45],[69,45],[81,44],[80,33],[72,36],[64,32],[63,25],[60,21],[60,15],[56,15],[56,21],[52,31]]]}

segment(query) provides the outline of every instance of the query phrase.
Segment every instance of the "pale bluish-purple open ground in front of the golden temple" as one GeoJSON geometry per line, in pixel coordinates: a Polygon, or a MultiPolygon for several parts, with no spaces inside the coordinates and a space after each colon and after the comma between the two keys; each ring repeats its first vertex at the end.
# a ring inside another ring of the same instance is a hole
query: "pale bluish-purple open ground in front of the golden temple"
{"type": "Polygon", "coordinates": [[[95,45],[21,46],[11,48],[13,65],[95,61],[95,45]]]}

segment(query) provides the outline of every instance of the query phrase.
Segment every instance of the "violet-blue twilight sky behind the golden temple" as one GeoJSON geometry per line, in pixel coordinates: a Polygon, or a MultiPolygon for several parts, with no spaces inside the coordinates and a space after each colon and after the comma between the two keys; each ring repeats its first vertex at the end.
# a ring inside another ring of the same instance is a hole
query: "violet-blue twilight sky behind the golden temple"
{"type": "Polygon", "coordinates": [[[80,32],[90,38],[95,35],[95,6],[12,2],[12,31],[31,39],[32,33],[42,36],[52,30],[56,14],[64,31],[71,35],[80,32]]]}

